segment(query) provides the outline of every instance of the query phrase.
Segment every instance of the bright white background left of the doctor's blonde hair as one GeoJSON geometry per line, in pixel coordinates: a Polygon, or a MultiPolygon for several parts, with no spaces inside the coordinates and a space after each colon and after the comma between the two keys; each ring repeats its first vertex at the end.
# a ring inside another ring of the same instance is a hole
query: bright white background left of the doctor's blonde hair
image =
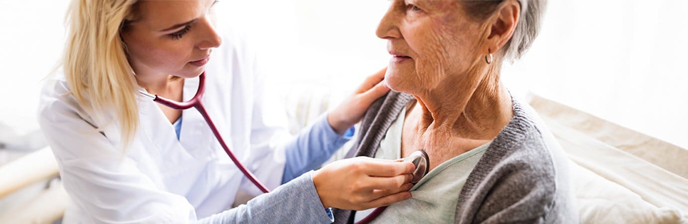
{"type": "Polygon", "coordinates": [[[0,124],[37,127],[39,82],[61,54],[67,2],[0,0],[0,124]]]}

